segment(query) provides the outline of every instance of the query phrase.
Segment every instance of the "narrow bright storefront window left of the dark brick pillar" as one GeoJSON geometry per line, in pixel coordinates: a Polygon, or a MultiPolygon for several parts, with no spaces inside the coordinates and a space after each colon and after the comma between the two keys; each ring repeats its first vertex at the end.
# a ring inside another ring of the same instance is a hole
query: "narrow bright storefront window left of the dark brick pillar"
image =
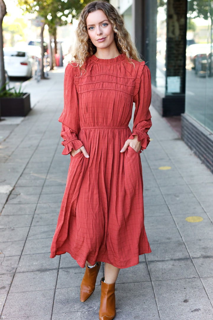
{"type": "Polygon", "coordinates": [[[167,0],[157,0],[156,87],[166,89],[166,8],[167,0]]]}

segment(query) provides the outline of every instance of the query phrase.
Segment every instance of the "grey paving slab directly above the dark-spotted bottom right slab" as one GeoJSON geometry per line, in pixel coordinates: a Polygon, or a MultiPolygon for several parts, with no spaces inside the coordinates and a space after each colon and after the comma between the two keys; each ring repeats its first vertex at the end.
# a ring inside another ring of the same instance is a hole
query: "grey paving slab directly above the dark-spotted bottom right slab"
{"type": "Polygon", "coordinates": [[[148,261],[152,281],[198,278],[191,259],[148,261]]]}

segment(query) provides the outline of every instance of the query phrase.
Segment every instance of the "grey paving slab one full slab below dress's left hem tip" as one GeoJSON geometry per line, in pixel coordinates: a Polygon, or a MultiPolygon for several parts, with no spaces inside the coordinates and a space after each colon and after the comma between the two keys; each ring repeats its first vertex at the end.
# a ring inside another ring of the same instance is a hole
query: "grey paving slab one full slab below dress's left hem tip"
{"type": "Polygon", "coordinates": [[[10,293],[55,289],[57,269],[16,273],[10,293]]]}

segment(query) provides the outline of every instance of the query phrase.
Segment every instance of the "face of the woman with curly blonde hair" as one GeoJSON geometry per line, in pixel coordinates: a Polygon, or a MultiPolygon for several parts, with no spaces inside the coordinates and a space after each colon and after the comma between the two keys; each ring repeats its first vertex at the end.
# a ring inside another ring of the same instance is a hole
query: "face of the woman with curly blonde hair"
{"type": "Polygon", "coordinates": [[[114,31],[112,24],[102,10],[90,12],[86,19],[87,33],[95,47],[107,49],[114,47],[114,31]]]}

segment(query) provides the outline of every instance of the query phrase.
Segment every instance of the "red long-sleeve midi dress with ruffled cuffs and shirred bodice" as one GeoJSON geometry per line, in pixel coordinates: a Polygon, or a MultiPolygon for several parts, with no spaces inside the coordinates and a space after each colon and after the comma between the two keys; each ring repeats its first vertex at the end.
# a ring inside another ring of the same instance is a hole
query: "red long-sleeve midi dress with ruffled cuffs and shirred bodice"
{"type": "Polygon", "coordinates": [[[149,143],[151,127],[150,71],[125,54],[114,59],[87,58],[83,68],[68,64],[64,110],[59,118],[64,151],[85,146],[71,156],[51,258],[69,252],[80,267],[103,261],[118,268],[139,263],[151,252],[144,228],[140,153],[149,143]],[[86,72],[85,72],[86,71],[86,72]],[[135,113],[133,133],[128,124],[135,113]],[[141,150],[128,146],[138,136],[141,150]]]}

